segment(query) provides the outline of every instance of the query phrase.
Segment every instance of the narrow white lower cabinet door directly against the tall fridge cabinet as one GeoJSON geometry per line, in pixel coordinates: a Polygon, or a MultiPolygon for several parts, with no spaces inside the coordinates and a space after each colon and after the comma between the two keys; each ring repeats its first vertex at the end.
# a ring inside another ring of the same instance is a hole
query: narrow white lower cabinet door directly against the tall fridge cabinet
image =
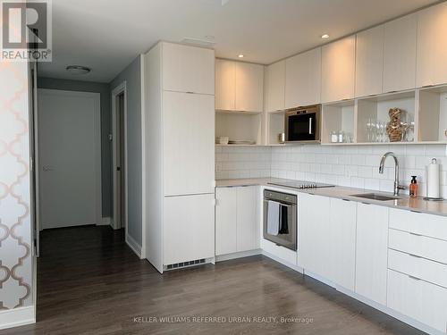
{"type": "Polygon", "coordinates": [[[237,188],[215,188],[215,255],[237,251],[237,188]]]}

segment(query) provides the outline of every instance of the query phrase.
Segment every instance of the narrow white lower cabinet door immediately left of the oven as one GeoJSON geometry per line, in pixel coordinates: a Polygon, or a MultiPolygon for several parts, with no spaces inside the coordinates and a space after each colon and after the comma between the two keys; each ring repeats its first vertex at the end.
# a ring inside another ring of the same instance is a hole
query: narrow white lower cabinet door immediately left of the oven
{"type": "Polygon", "coordinates": [[[247,251],[259,247],[257,228],[257,187],[247,186],[237,189],[237,251],[247,251]]]}

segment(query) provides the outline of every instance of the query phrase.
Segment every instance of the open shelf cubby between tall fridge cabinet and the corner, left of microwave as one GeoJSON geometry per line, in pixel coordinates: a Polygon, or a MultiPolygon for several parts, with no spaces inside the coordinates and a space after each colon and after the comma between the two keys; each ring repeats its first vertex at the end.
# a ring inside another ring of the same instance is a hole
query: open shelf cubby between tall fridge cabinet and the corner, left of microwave
{"type": "Polygon", "coordinates": [[[263,113],[215,111],[215,144],[260,146],[263,144],[263,113]],[[221,138],[223,142],[221,143],[221,138]],[[226,143],[226,140],[228,143],[226,143]]]}

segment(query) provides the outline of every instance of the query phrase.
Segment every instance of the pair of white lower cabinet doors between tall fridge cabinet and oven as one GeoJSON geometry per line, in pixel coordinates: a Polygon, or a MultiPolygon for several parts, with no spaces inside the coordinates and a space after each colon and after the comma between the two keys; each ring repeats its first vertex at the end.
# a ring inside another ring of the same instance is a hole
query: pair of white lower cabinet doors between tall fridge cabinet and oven
{"type": "Polygon", "coordinates": [[[257,187],[215,188],[215,199],[215,255],[257,249],[257,187]]]}

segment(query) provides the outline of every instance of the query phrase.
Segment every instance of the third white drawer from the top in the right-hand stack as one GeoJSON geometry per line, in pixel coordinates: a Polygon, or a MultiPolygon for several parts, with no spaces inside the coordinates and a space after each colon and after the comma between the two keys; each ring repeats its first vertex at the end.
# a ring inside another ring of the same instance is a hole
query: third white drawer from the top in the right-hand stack
{"type": "Polygon", "coordinates": [[[446,264],[389,249],[388,268],[447,288],[446,264]]]}

